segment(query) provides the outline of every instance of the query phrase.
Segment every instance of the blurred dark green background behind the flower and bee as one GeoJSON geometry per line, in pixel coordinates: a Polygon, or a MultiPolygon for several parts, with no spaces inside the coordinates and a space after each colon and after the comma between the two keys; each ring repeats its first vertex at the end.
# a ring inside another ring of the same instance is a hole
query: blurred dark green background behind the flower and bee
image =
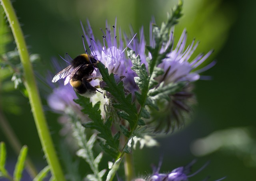
{"type": "MultiPolygon", "coordinates": [[[[132,25],[135,32],[144,26],[148,40],[149,23],[152,17],[156,24],[166,20],[166,12],[170,12],[176,4],[172,0],[27,0],[15,1],[13,6],[21,22],[30,53],[38,53],[40,63],[34,66],[35,72],[42,76],[51,69],[50,61],[58,54],[66,52],[71,57],[84,52],[82,45],[82,29],[80,20],[86,24],[90,21],[94,35],[101,38],[100,28],[105,28],[105,21],[117,25],[129,32],[132,25]]],[[[208,136],[216,130],[246,127],[254,140],[255,122],[255,70],[256,58],[254,48],[256,42],[256,1],[254,0],[184,0],[184,16],[175,29],[176,41],[181,31],[188,31],[187,45],[194,37],[200,40],[194,55],[215,49],[209,61],[216,59],[217,64],[204,75],[211,75],[211,81],[198,81],[195,84],[197,104],[194,106],[193,119],[186,122],[184,128],[166,137],[158,138],[161,146],[135,151],[135,166],[138,175],[146,175],[152,171],[152,164],[158,165],[163,157],[162,172],[186,165],[196,156],[191,153],[194,140],[208,136]],[[150,157],[150,159],[148,159],[150,157]]],[[[12,44],[8,50],[13,50],[12,44]]],[[[58,58],[60,59],[60,58],[58,58]]],[[[1,71],[1,70],[0,70],[1,71]]],[[[43,103],[50,93],[50,88],[38,82],[43,103]],[[42,88],[41,88],[42,87],[42,88]]],[[[1,92],[10,97],[10,105],[1,101],[3,114],[11,124],[22,145],[29,148],[29,155],[38,169],[46,165],[36,127],[27,98],[19,91],[1,92]],[[7,95],[8,94],[8,95],[7,95]],[[11,102],[14,102],[13,104],[11,102]]],[[[2,99],[3,100],[3,99],[2,99]]],[[[50,112],[46,106],[48,124],[59,149],[60,125],[56,121],[57,114],[50,112]]],[[[15,161],[16,155],[8,144],[8,139],[0,131],[0,141],[8,145],[8,159],[15,161]]],[[[192,181],[216,180],[227,176],[225,180],[256,180],[256,147],[255,142],[239,148],[225,145],[214,153],[198,157],[193,171],[206,161],[210,164],[192,181]],[[243,151],[241,151],[243,150],[243,151]],[[253,164],[254,162],[254,164],[253,164]],[[251,164],[252,163],[252,164],[251,164]]],[[[212,143],[213,144],[213,143],[212,143]]],[[[212,145],[209,143],[209,145],[212,145]]]]}

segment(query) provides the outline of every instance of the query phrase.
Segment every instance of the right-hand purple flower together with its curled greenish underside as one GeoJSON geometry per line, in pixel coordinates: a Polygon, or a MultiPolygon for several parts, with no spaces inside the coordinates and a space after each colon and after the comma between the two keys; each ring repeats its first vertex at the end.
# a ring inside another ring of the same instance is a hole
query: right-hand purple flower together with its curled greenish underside
{"type": "MultiPolygon", "coordinates": [[[[159,111],[154,110],[154,108],[149,108],[151,113],[151,119],[147,121],[155,128],[155,131],[168,132],[170,129],[180,128],[184,123],[185,113],[189,113],[191,110],[191,104],[195,102],[192,93],[192,82],[200,79],[199,73],[210,69],[215,65],[215,61],[208,64],[206,67],[198,69],[200,66],[212,53],[212,50],[206,53],[206,55],[199,54],[196,58],[191,59],[192,54],[198,46],[198,42],[195,40],[188,46],[186,46],[187,33],[186,30],[182,32],[180,39],[176,47],[174,47],[174,31],[170,31],[169,40],[167,43],[163,44],[160,53],[166,51],[166,49],[171,46],[171,51],[167,53],[166,58],[158,65],[164,70],[164,74],[156,77],[156,81],[168,85],[169,83],[178,83],[180,81],[186,81],[186,86],[182,91],[176,94],[169,95],[170,102],[165,100],[158,100],[159,111]],[[197,70],[195,70],[197,69],[197,70]]],[[[146,54],[145,50],[146,41],[144,38],[143,28],[140,30],[140,39],[135,38],[132,41],[131,48],[140,55],[142,63],[145,63],[146,67],[147,61],[146,57],[152,58],[151,54],[146,54]]],[[[150,41],[149,45],[151,47],[155,46],[154,36],[152,33],[152,25],[150,25],[150,41]]]]}

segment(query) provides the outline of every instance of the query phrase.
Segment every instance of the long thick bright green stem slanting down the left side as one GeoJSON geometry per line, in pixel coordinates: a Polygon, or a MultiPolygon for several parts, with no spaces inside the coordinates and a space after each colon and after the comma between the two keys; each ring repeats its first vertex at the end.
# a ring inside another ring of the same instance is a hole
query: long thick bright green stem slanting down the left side
{"type": "Polygon", "coordinates": [[[14,39],[20,55],[20,60],[24,69],[24,85],[28,91],[28,97],[34,116],[34,121],[38,131],[38,135],[42,144],[42,148],[46,155],[46,160],[50,166],[51,172],[57,181],[65,181],[56,151],[53,146],[52,138],[48,129],[48,125],[42,109],[42,102],[36,85],[32,65],[30,63],[26,42],[20,28],[17,16],[10,0],[1,0],[4,12],[12,29],[14,39]]]}

